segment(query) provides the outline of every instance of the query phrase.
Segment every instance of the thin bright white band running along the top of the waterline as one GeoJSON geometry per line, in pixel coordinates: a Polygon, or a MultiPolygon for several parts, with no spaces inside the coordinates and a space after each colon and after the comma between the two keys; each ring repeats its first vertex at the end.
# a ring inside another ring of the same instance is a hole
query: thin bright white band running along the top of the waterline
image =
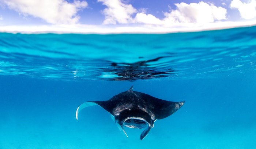
{"type": "Polygon", "coordinates": [[[0,32],[7,33],[81,33],[81,34],[109,34],[109,33],[174,33],[208,31],[256,25],[256,21],[222,21],[205,24],[178,23],[172,25],[9,25],[0,26],[0,32]]]}

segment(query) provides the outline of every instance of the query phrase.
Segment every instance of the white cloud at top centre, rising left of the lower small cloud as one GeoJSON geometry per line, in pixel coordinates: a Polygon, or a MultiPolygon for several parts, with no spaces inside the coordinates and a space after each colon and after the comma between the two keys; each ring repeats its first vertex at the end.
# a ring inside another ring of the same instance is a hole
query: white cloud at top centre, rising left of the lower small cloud
{"type": "Polygon", "coordinates": [[[103,10],[105,20],[103,24],[132,23],[132,14],[137,10],[131,4],[124,4],[121,0],[98,0],[108,8],[103,10]]]}

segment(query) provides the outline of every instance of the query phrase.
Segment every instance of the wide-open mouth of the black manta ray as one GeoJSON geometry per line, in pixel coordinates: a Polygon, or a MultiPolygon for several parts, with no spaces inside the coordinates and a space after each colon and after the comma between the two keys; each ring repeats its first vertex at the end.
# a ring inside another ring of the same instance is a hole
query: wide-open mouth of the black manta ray
{"type": "Polygon", "coordinates": [[[140,117],[127,118],[123,125],[128,128],[145,128],[148,126],[146,120],[140,117]]]}

